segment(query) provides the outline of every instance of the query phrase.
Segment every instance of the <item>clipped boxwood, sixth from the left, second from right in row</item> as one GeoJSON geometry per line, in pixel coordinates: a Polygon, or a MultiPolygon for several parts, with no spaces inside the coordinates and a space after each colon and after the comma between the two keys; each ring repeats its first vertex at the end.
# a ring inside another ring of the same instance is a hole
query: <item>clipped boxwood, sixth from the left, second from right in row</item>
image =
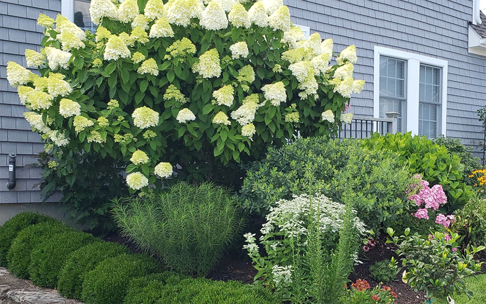
{"type": "Polygon", "coordinates": [[[135,277],[130,281],[123,304],[156,304],[162,297],[163,288],[153,288],[154,285],[174,285],[185,278],[187,277],[168,271],[135,277]],[[157,283],[152,283],[153,281],[157,283]]]}

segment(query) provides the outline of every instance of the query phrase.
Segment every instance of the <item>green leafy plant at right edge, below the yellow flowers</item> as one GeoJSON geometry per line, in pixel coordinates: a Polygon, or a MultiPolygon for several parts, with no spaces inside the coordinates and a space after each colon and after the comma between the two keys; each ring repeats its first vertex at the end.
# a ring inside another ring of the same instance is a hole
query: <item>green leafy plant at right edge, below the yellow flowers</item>
{"type": "Polygon", "coordinates": [[[486,199],[472,197],[455,217],[451,230],[463,237],[463,247],[486,246],[486,199]]]}

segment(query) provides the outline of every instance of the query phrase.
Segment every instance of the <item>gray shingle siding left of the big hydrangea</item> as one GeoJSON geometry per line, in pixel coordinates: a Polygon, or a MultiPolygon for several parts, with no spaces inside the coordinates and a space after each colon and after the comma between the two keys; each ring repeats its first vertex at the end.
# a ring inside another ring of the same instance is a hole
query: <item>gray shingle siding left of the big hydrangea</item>
{"type": "Polygon", "coordinates": [[[6,64],[11,60],[26,66],[25,49],[40,49],[39,13],[55,18],[60,9],[61,0],[0,0],[0,203],[42,201],[38,187],[33,188],[40,169],[25,166],[36,162],[33,155],[43,151],[44,144],[24,119],[26,109],[7,83],[6,64]],[[17,185],[11,191],[5,186],[8,153],[17,153],[17,185]]]}

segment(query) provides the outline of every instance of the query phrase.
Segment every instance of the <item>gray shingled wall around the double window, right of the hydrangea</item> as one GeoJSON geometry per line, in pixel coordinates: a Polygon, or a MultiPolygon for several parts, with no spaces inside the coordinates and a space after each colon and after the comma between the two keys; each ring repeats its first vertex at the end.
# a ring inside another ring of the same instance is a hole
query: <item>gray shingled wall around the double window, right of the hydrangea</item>
{"type": "Polygon", "coordinates": [[[355,114],[373,116],[374,47],[448,61],[447,136],[481,156],[477,110],[486,104],[486,57],[468,54],[471,0],[284,0],[292,21],[334,40],[334,51],[356,45],[355,78],[366,81],[351,98],[355,114]]]}

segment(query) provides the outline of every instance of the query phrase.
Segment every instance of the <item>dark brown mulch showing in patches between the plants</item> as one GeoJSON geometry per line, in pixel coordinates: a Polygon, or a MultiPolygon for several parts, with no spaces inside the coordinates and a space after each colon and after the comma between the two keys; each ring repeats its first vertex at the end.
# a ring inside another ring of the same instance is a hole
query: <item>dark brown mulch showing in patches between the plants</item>
{"type": "MultiPolygon", "coordinates": [[[[132,252],[141,252],[137,246],[128,238],[120,235],[110,235],[104,237],[105,241],[119,243],[127,246],[132,252]]],[[[390,259],[392,256],[398,259],[394,253],[394,248],[391,244],[385,244],[386,237],[377,240],[377,246],[372,247],[368,252],[365,252],[363,256],[360,256],[362,264],[354,267],[354,272],[350,275],[350,280],[355,281],[358,278],[366,279],[370,283],[371,287],[378,285],[378,282],[370,277],[369,267],[370,265],[381,261],[383,259],[390,259]]],[[[486,260],[486,254],[478,256],[481,260],[486,260]]],[[[401,263],[399,262],[399,265],[401,263]]],[[[486,263],[483,265],[483,272],[486,273],[486,263]]],[[[242,254],[241,250],[234,249],[227,252],[216,264],[216,267],[209,273],[208,278],[214,280],[237,280],[243,283],[253,282],[253,277],[257,271],[251,265],[250,258],[242,254]]],[[[396,301],[397,304],[422,304],[424,302],[424,294],[413,292],[409,286],[402,282],[402,273],[397,275],[397,278],[386,284],[391,287],[398,295],[396,301]]]]}

